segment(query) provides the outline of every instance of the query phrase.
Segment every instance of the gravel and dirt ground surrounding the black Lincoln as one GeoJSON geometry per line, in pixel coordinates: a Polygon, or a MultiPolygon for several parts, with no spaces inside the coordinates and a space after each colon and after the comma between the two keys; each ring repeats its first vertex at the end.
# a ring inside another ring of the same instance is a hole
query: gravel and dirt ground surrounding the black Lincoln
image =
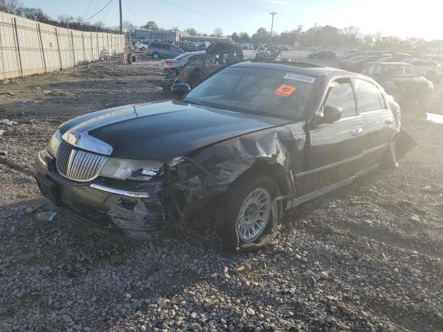
{"type": "Polygon", "coordinates": [[[163,241],[90,228],[48,203],[33,159],[73,116],[171,98],[159,62],[118,59],[0,86],[0,331],[443,331],[442,94],[404,107],[419,146],[287,213],[259,252],[191,221],[163,241]],[[440,101],[438,101],[440,99],[440,101]],[[47,212],[58,212],[48,221],[47,212]]]}

